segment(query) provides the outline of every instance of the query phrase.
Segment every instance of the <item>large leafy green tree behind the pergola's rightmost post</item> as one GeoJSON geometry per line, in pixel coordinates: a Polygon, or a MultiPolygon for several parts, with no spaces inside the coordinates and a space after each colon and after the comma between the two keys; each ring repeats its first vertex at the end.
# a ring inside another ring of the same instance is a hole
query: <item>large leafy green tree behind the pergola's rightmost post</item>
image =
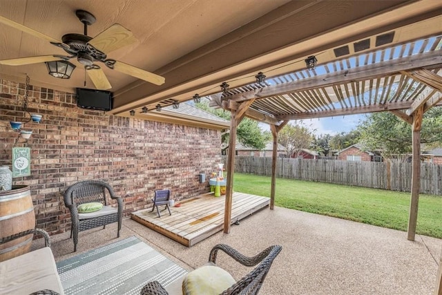
{"type": "MultiPolygon", "coordinates": [[[[381,150],[384,158],[412,153],[412,127],[392,113],[372,113],[357,126],[361,143],[371,150],[381,150]]],[[[442,145],[442,107],[430,108],[423,115],[421,143],[442,145]]]]}

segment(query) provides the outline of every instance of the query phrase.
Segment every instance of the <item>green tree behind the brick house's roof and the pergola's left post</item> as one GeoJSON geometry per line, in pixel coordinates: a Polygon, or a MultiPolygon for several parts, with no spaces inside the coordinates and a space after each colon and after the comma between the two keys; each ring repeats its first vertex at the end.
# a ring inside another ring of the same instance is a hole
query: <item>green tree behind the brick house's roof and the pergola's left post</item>
{"type": "MultiPolygon", "coordinates": [[[[224,120],[230,121],[231,119],[230,112],[224,111],[222,108],[211,108],[208,102],[199,102],[195,104],[195,106],[213,115],[222,117],[224,120]]],[[[236,129],[236,135],[238,142],[244,146],[253,147],[258,150],[264,149],[267,142],[271,139],[271,133],[269,131],[262,131],[258,121],[251,120],[248,117],[242,119],[236,129]]],[[[229,131],[222,133],[221,140],[223,150],[227,149],[229,147],[229,131]]]]}

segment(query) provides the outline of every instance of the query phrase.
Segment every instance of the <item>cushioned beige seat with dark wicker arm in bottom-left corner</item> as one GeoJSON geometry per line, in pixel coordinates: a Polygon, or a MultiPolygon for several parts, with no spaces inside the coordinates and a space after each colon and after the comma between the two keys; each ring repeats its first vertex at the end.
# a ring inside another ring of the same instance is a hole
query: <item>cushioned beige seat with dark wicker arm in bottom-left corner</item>
{"type": "Polygon", "coordinates": [[[35,292],[38,294],[41,290],[52,290],[56,292],[54,294],[63,295],[63,287],[46,231],[41,229],[23,231],[14,236],[0,238],[0,244],[28,234],[42,234],[46,247],[0,263],[0,294],[23,295],[35,292]]]}

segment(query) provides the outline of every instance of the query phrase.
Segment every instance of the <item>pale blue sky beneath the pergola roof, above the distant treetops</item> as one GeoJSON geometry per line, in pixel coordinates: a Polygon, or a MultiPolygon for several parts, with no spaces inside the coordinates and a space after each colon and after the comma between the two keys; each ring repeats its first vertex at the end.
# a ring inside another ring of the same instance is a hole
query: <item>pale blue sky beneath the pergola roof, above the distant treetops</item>
{"type": "MultiPolygon", "coordinates": [[[[356,129],[359,121],[364,120],[365,115],[346,115],[338,117],[323,117],[316,119],[302,120],[305,126],[311,130],[314,135],[330,134],[336,135],[341,132],[348,133],[356,129]]],[[[296,121],[291,121],[294,124],[296,121]]],[[[270,131],[269,124],[260,124],[262,130],[270,131]]]]}

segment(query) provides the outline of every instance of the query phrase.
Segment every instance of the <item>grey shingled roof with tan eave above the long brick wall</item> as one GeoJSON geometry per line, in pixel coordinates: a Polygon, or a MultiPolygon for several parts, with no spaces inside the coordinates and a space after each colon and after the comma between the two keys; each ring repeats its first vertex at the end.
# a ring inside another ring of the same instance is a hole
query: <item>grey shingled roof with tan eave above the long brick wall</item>
{"type": "MultiPolygon", "coordinates": [[[[209,129],[229,129],[230,122],[191,104],[180,104],[179,108],[165,106],[160,112],[148,111],[140,114],[146,120],[155,120],[174,124],[199,126],[209,129]]],[[[141,117],[140,116],[140,117],[141,117]]]]}

